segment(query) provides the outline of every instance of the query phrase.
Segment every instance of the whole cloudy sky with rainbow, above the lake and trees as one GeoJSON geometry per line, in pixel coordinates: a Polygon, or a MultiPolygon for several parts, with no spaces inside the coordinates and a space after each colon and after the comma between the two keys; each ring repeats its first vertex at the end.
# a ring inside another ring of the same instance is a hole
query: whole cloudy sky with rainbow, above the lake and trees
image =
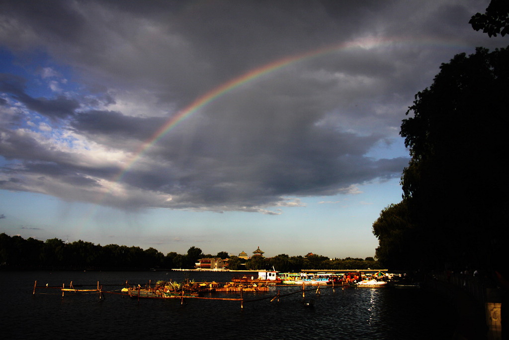
{"type": "Polygon", "coordinates": [[[0,232],[374,256],[399,136],[485,0],[0,1],[0,232]]]}

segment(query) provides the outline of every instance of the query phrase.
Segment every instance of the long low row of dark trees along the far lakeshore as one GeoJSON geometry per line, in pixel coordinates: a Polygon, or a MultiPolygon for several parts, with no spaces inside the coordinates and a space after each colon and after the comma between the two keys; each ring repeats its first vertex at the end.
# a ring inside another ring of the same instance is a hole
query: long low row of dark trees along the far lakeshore
{"type": "Polygon", "coordinates": [[[378,268],[373,257],[333,259],[312,255],[289,256],[280,254],[271,258],[253,256],[250,259],[229,256],[226,251],[215,255],[204,254],[200,248],[190,247],[186,254],[169,252],[164,255],[154,248],[109,244],[95,245],[86,241],[64,242],[49,239],[46,242],[34,238],[23,239],[0,234],[0,268],[9,269],[88,269],[88,270],[147,270],[150,268],[193,269],[204,257],[228,258],[232,270],[262,270],[275,268],[278,271],[300,271],[301,269],[367,269],[378,268]]]}

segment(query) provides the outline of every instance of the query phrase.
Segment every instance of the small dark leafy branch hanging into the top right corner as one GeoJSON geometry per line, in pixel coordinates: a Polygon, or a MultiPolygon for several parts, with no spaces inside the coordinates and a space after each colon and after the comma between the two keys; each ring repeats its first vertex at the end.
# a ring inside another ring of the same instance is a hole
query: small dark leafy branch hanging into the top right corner
{"type": "Polygon", "coordinates": [[[485,14],[476,13],[468,21],[475,31],[483,30],[489,37],[509,33],[509,1],[491,0],[485,14]]]}

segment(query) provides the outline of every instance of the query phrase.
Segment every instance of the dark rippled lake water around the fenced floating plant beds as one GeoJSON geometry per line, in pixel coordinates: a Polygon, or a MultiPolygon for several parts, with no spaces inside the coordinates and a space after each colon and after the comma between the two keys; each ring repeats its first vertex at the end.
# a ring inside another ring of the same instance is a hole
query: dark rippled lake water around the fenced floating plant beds
{"type": "MultiPolygon", "coordinates": [[[[137,299],[97,293],[65,293],[38,286],[92,284],[103,291],[158,280],[227,282],[232,272],[0,272],[3,338],[240,338],[243,339],[450,339],[456,326],[454,307],[422,289],[326,289],[244,303],[186,299],[137,299]],[[108,286],[107,286],[108,285],[108,286]]],[[[84,288],[84,287],[83,287],[84,288]]],[[[93,288],[93,286],[92,286],[93,288]]],[[[297,286],[272,286],[265,293],[244,293],[245,300],[287,294],[297,286]]],[[[306,289],[312,287],[306,286],[306,289]]],[[[239,298],[240,293],[208,297],[239,298]]]]}

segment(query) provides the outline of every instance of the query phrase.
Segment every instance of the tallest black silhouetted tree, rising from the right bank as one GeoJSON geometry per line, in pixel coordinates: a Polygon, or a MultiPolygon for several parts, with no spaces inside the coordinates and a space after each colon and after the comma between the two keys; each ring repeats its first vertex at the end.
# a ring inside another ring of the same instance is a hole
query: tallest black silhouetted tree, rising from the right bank
{"type": "Polygon", "coordinates": [[[503,256],[507,60],[507,48],[455,56],[401,125],[411,155],[402,176],[409,241],[429,266],[490,266],[503,256]]]}

